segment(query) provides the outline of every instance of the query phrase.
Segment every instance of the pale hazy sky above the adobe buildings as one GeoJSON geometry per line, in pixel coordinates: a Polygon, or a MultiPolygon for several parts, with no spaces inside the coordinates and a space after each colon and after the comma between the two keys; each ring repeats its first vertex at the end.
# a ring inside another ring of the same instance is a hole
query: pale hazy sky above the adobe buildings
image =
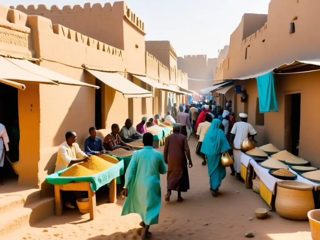
{"type": "MultiPolygon", "coordinates": [[[[3,5],[84,5],[88,0],[0,0],[3,5]],[[10,2],[10,4],[8,3],[10,2]]],[[[105,2],[100,2],[103,6],[105,2]]],[[[113,3],[114,1],[108,1],[113,3]]],[[[146,40],[169,40],[179,56],[217,57],[244,13],[268,13],[270,0],[127,0],[145,22],[146,40]]],[[[96,2],[91,2],[94,4],[96,2]]]]}

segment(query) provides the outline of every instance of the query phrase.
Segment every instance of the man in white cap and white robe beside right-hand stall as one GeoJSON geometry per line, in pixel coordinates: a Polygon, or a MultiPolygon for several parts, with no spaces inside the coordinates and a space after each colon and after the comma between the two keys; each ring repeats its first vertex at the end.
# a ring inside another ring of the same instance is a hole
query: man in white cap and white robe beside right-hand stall
{"type": "Polygon", "coordinates": [[[230,132],[230,146],[233,148],[233,159],[235,161],[234,167],[237,173],[237,177],[241,173],[241,143],[247,138],[254,138],[257,134],[253,126],[247,123],[248,115],[240,113],[240,122],[236,122],[230,132]]]}

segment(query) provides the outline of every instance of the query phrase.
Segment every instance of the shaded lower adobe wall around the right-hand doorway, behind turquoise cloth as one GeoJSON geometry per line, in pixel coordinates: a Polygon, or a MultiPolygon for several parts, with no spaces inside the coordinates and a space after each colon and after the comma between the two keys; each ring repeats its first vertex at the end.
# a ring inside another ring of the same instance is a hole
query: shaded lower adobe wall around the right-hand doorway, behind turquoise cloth
{"type": "MultiPolygon", "coordinates": [[[[279,149],[285,149],[285,127],[287,126],[285,124],[285,96],[287,94],[301,93],[299,156],[310,161],[313,166],[320,167],[320,161],[317,157],[318,143],[317,141],[310,141],[310,136],[318,136],[320,134],[320,128],[317,127],[317,117],[310,118],[308,114],[314,112],[314,105],[310,103],[319,102],[320,100],[317,91],[320,87],[319,77],[319,72],[275,75],[279,112],[265,113],[264,126],[255,125],[256,99],[258,97],[256,80],[245,81],[244,85],[248,94],[248,122],[258,132],[255,139],[258,141],[259,146],[272,143],[279,149]]],[[[240,96],[240,94],[237,94],[237,96],[240,96]]],[[[243,104],[240,103],[239,97],[236,104],[243,104]]]]}

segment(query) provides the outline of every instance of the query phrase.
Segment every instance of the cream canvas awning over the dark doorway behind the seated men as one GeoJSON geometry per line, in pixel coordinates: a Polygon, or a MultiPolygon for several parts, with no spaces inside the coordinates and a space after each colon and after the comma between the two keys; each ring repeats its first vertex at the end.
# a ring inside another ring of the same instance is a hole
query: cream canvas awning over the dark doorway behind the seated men
{"type": "Polygon", "coordinates": [[[121,92],[124,98],[149,98],[153,97],[152,92],[149,92],[136,84],[130,82],[125,77],[117,72],[103,72],[97,70],[85,69],[90,74],[98,78],[104,84],[112,87],[118,92],[121,92]]]}

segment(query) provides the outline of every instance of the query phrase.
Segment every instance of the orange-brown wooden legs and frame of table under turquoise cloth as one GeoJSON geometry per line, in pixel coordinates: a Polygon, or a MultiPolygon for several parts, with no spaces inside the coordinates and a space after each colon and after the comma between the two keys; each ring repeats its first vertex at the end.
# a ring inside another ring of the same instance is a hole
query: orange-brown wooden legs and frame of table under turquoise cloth
{"type": "MultiPolygon", "coordinates": [[[[109,203],[116,203],[116,179],[113,179],[110,183],[109,203]]],[[[89,211],[90,219],[93,220],[96,217],[96,194],[91,189],[90,182],[72,182],[63,185],[54,185],[55,196],[55,215],[60,217],[63,211],[61,191],[87,191],[89,198],[89,211]]]]}

